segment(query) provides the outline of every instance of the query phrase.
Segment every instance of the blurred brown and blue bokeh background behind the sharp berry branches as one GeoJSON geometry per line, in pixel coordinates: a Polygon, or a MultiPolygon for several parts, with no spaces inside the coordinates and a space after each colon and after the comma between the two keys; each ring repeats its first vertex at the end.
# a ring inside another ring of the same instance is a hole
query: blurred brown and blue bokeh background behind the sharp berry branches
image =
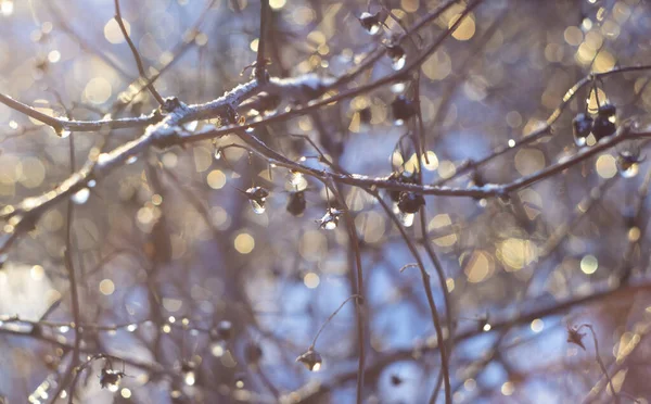
{"type": "MultiPolygon", "coordinates": [[[[441,3],[270,0],[269,72],[340,77],[441,3]],[[358,17],[378,11],[383,25],[370,35],[358,17]]],[[[164,72],[155,81],[164,97],[202,103],[246,80],[241,72],[256,59],[259,2],[124,0],[122,8],[148,74],[164,72]]],[[[418,58],[421,43],[432,43],[464,8],[462,1],[452,5],[405,41],[405,61],[418,58]]],[[[138,71],[114,13],[112,1],[0,0],[0,91],[75,119],[99,119],[131,99],[116,116],[150,113],[157,104],[135,85],[138,71]]],[[[409,139],[417,124],[396,125],[392,102],[397,93],[413,97],[418,88],[423,184],[510,182],[575,154],[572,118],[586,106],[595,112],[608,101],[620,122],[649,121],[648,73],[611,75],[597,90],[583,88],[549,136],[457,175],[469,160],[542,127],[588,74],[649,63],[650,38],[644,1],[484,1],[424,61],[417,80],[379,87],[255,134],[315,167],[322,167],[317,152],[293,135],[310,137],[350,173],[413,173],[419,157],[409,139]]],[[[372,83],[401,63],[383,56],[331,91],[372,83]]],[[[67,139],[4,105],[0,128],[3,205],[46,192],[69,175],[67,139]]],[[[141,132],[112,130],[108,143],[141,132]]],[[[77,167],[101,136],[72,135],[77,167]]],[[[315,223],[329,207],[321,184],[295,178],[244,149],[220,151],[233,143],[241,142],[225,137],[152,150],[89,194],[76,195],[71,226],[81,348],[85,357],[114,357],[88,363],[76,402],[355,401],[354,302],[320,334],[319,371],[295,363],[355,293],[345,226],[327,231],[315,223]],[[296,184],[306,187],[299,217],[286,211],[296,184]],[[252,186],[270,191],[260,214],[239,191],[252,186]],[[126,376],[102,389],[98,377],[106,377],[107,363],[126,376]]],[[[639,175],[618,175],[618,154],[636,148],[644,154],[644,142],[629,143],[509,198],[426,198],[425,237],[418,219],[407,231],[422,254],[423,242],[438,254],[455,333],[463,336],[450,359],[455,403],[574,403],[591,389],[599,402],[612,402],[590,337],[585,351],[566,342],[567,325],[578,324],[593,326],[623,402],[649,402],[649,203],[638,191],[649,177],[644,163],[639,175]],[[540,316],[527,316],[536,311],[540,316]]],[[[424,403],[441,359],[418,269],[399,272],[413,257],[372,195],[354,187],[341,191],[359,235],[366,283],[365,402],[424,403]]],[[[0,396],[8,403],[55,400],[71,361],[62,255],[67,224],[65,205],[49,211],[3,257],[0,396]]],[[[445,317],[442,285],[430,262],[425,267],[445,317]]],[[[69,390],[61,394],[60,402],[67,402],[69,390]]]]}

